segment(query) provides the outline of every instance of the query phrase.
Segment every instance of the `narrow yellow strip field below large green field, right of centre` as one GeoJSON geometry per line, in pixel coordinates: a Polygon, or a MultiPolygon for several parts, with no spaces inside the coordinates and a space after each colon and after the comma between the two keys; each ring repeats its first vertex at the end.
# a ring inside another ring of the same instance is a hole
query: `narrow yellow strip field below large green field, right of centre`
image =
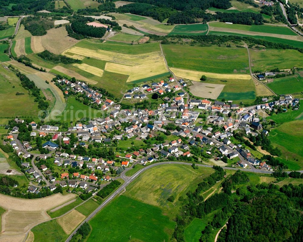
{"type": "Polygon", "coordinates": [[[202,75],[205,75],[209,78],[222,78],[222,79],[242,79],[242,80],[250,80],[251,76],[246,74],[218,74],[211,72],[203,72],[203,71],[190,71],[179,68],[170,68],[170,70],[178,77],[186,78],[192,81],[200,81],[202,75]]]}

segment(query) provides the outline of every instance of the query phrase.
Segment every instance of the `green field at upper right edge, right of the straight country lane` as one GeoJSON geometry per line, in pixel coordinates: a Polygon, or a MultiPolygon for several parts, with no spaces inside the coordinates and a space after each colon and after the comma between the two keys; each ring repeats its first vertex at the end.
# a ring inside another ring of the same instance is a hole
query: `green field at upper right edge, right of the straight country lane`
{"type": "MultiPolygon", "coordinates": [[[[302,43],[303,45],[303,43],[302,43]]],[[[283,49],[249,49],[252,71],[270,71],[275,68],[279,70],[303,67],[303,54],[297,50],[283,49]]]]}

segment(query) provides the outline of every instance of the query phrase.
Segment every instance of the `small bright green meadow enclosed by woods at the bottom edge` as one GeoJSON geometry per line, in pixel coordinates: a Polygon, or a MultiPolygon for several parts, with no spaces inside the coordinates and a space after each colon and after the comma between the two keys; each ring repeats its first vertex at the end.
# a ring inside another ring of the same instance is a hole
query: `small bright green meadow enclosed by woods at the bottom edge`
{"type": "Polygon", "coordinates": [[[186,242],[198,242],[202,236],[201,231],[206,227],[207,223],[201,218],[194,218],[184,230],[186,242]]]}

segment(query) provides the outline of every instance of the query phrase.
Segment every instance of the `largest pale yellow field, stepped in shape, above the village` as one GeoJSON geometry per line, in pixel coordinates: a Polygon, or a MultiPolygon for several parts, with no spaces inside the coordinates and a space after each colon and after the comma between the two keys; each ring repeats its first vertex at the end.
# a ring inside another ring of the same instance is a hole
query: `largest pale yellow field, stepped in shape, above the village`
{"type": "MultiPolygon", "coordinates": [[[[167,72],[165,61],[160,51],[140,55],[128,55],[104,50],[72,47],[65,52],[113,62],[106,63],[105,71],[129,75],[127,82],[167,72]]],[[[62,54],[65,54],[65,52],[62,54]]]]}

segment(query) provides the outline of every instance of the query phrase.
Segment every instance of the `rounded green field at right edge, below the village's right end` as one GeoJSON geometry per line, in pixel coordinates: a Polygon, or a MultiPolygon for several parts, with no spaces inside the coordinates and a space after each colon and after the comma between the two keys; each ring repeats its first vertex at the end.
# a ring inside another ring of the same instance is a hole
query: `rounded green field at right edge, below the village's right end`
{"type": "Polygon", "coordinates": [[[297,160],[298,165],[303,167],[302,130],[303,121],[291,121],[281,124],[269,133],[269,139],[282,150],[282,158],[297,160]]]}

